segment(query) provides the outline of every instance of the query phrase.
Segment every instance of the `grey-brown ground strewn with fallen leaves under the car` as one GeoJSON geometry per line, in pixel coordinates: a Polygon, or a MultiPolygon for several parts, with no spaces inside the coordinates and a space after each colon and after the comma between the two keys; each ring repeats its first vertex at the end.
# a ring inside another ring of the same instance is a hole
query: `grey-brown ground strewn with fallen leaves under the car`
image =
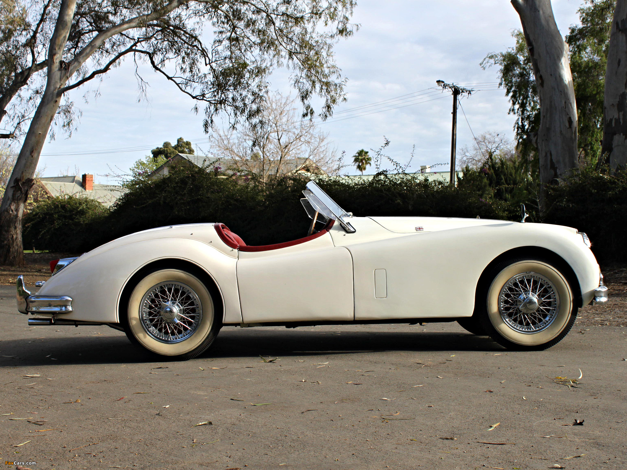
{"type": "Polygon", "coordinates": [[[624,469],[620,269],[607,305],[529,353],[456,323],[226,327],[210,352],[168,362],[104,326],[28,327],[0,286],[1,457],[33,470],[624,469]],[[554,380],[580,369],[574,387],[554,380]]]}

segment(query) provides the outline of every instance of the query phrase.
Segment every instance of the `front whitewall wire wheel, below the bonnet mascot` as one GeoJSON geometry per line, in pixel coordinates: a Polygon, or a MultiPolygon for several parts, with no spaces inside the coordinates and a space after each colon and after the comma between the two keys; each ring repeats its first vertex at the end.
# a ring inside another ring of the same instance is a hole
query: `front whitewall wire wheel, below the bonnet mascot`
{"type": "Polygon", "coordinates": [[[544,350],[571,330],[577,306],[571,285],[545,259],[510,259],[489,273],[480,322],[495,342],[515,350],[544,350]],[[491,282],[490,280],[491,279],[491,282]]]}

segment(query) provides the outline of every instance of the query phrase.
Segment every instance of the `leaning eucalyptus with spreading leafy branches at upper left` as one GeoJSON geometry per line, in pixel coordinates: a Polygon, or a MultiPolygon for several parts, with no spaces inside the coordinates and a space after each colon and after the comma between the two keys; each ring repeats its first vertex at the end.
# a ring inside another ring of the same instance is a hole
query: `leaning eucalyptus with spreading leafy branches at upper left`
{"type": "Polygon", "coordinates": [[[0,60],[0,113],[8,110],[5,120],[13,124],[28,118],[29,125],[0,206],[0,264],[24,263],[24,203],[51,123],[61,117],[71,125],[66,93],[102,77],[127,55],[206,103],[205,130],[222,112],[233,126],[256,120],[268,76],[280,66],[292,71],[303,115],[315,114],[314,95],[323,98],[323,118],[344,99],[333,45],[354,31],[354,0],[25,0],[23,7],[3,1],[13,5],[8,11],[15,33],[4,34],[3,23],[0,44],[7,51],[16,41],[17,49],[13,59],[0,60]],[[6,108],[19,93],[33,103],[32,115],[28,107],[6,108]]]}

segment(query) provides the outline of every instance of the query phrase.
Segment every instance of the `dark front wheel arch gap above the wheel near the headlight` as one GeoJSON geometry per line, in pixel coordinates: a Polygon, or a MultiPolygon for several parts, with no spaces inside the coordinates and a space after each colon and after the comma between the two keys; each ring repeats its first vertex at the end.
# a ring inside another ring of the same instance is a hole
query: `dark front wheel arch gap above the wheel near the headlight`
{"type": "Polygon", "coordinates": [[[517,248],[509,249],[501,254],[499,254],[496,258],[494,258],[490,263],[483,269],[479,280],[477,281],[477,288],[475,289],[475,311],[479,303],[479,293],[483,288],[491,281],[490,272],[492,271],[493,266],[498,263],[501,263],[505,259],[508,258],[518,258],[518,257],[527,257],[533,258],[534,256],[545,258],[551,261],[556,265],[556,268],[559,268],[562,274],[566,276],[566,279],[571,285],[571,289],[573,290],[574,300],[577,307],[581,308],[583,305],[583,298],[581,293],[581,285],[579,285],[579,279],[577,278],[577,274],[571,268],[571,265],[567,263],[567,261],[559,256],[559,254],[551,251],[550,249],[543,248],[541,246],[519,246],[517,248]]]}

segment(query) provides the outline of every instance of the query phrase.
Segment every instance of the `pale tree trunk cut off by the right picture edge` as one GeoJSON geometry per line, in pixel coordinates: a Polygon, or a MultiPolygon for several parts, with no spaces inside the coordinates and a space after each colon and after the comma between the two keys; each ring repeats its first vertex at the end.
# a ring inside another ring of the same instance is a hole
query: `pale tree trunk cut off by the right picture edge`
{"type": "Polygon", "coordinates": [[[601,154],[613,169],[627,165],[627,0],[616,2],[609,35],[601,154]]]}

